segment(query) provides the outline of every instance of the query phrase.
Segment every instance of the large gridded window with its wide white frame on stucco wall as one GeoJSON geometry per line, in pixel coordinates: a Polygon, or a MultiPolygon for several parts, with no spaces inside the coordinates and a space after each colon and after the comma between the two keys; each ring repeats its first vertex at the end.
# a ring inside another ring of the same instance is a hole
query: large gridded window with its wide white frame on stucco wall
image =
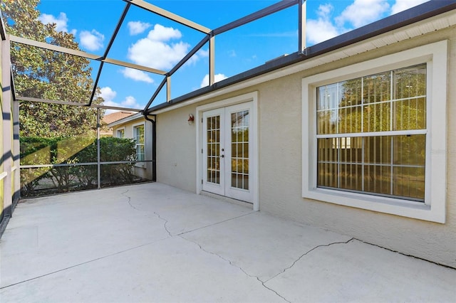
{"type": "Polygon", "coordinates": [[[302,84],[304,198],[445,223],[447,41],[302,84]]]}

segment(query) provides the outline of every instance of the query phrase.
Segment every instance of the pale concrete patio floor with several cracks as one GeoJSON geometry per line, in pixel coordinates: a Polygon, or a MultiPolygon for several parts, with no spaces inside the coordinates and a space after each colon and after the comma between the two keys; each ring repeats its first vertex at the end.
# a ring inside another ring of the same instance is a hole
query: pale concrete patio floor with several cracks
{"type": "Polygon", "coordinates": [[[456,270],[163,184],[19,203],[6,302],[456,302],[456,270]]]}

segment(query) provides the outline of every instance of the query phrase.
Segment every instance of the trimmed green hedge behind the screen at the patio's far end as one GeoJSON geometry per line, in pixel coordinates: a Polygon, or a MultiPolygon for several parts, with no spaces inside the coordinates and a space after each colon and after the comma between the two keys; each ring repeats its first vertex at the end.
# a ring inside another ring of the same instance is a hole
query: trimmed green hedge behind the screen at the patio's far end
{"type": "MultiPolygon", "coordinates": [[[[97,140],[81,137],[21,137],[21,166],[37,164],[84,164],[97,162],[97,140]]],[[[134,139],[100,138],[100,161],[136,161],[134,139]]],[[[103,164],[100,179],[103,185],[130,184],[135,164],[103,164]]],[[[97,187],[96,164],[21,169],[22,196],[36,196],[44,180],[56,192],[97,187]]]]}

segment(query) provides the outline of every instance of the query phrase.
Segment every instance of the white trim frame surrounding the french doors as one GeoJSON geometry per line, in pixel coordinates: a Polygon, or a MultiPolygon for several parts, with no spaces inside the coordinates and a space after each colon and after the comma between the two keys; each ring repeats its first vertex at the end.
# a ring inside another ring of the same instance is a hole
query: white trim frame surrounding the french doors
{"type": "Polygon", "coordinates": [[[200,105],[196,109],[196,121],[197,121],[197,184],[196,191],[200,194],[202,191],[202,113],[208,110],[215,110],[221,107],[229,107],[231,105],[237,105],[241,103],[252,102],[252,122],[250,124],[249,132],[252,132],[252,159],[249,161],[249,171],[252,177],[252,195],[253,195],[253,209],[259,211],[259,134],[258,134],[258,92],[249,92],[244,95],[224,99],[217,102],[212,102],[207,105],[200,105]]]}

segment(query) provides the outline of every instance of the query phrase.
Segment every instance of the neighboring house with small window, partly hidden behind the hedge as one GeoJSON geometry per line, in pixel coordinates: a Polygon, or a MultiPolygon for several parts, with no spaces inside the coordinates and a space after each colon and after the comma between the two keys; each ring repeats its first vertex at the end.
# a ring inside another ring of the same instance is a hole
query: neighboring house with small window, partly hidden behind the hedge
{"type": "Polygon", "coordinates": [[[142,113],[129,115],[108,124],[113,137],[135,139],[135,176],[152,180],[152,123],[142,113]]]}

